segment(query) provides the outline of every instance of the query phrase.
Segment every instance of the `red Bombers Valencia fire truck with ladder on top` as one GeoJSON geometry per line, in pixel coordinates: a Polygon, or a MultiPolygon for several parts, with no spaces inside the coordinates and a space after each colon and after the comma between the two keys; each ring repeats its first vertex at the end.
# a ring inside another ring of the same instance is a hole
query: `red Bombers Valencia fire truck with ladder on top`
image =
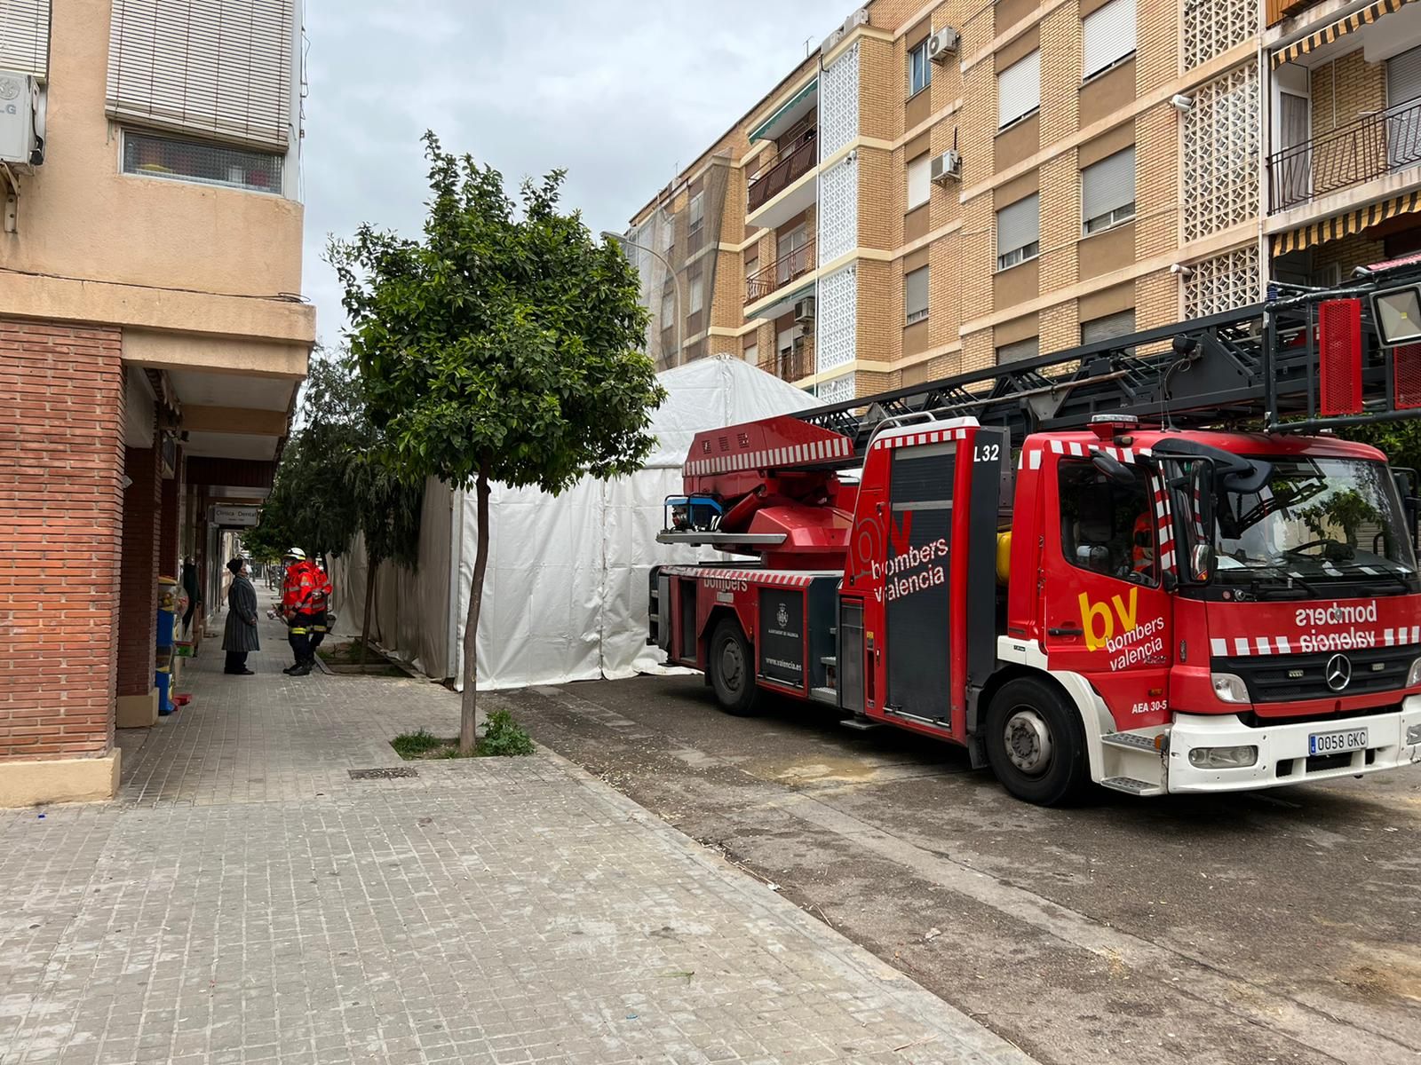
{"type": "Polygon", "coordinates": [[[753,561],[654,569],[648,642],[1039,804],[1421,761],[1415,474],[1333,435],[1421,413],[1407,270],[701,433],[659,540],[753,561]]]}

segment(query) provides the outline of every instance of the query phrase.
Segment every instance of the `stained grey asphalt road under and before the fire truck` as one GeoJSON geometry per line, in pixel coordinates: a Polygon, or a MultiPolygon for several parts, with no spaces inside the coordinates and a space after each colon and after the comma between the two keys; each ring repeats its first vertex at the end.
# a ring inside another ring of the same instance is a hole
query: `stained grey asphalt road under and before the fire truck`
{"type": "Polygon", "coordinates": [[[1421,770],[1056,811],[821,707],[729,717],[698,676],[503,697],[1042,1062],[1421,1061],[1421,770]]]}

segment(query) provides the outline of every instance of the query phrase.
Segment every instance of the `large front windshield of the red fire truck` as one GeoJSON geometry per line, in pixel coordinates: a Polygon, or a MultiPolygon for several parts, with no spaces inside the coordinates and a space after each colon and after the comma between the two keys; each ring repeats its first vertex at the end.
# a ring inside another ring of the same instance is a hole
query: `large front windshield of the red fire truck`
{"type": "Polygon", "coordinates": [[[1258,491],[1225,488],[1216,496],[1219,582],[1260,575],[1307,585],[1390,579],[1398,592],[1410,589],[1415,559],[1383,463],[1304,456],[1263,462],[1272,473],[1258,491]]]}

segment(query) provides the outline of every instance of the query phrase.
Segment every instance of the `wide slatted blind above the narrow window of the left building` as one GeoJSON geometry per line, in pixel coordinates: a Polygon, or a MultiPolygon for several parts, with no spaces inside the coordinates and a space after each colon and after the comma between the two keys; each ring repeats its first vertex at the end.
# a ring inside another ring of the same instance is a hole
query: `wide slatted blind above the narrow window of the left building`
{"type": "Polygon", "coordinates": [[[108,115],[286,149],[291,139],[294,3],[112,0],[108,115]]]}

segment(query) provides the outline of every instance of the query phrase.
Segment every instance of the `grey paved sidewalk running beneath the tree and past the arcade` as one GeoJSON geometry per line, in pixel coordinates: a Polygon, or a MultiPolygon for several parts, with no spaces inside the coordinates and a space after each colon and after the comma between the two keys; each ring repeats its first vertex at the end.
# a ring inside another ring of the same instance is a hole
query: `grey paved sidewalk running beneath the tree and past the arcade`
{"type": "Polygon", "coordinates": [[[1029,1065],[557,755],[401,763],[442,687],[261,640],[206,643],[118,801],[0,811],[3,1065],[1029,1065]]]}

